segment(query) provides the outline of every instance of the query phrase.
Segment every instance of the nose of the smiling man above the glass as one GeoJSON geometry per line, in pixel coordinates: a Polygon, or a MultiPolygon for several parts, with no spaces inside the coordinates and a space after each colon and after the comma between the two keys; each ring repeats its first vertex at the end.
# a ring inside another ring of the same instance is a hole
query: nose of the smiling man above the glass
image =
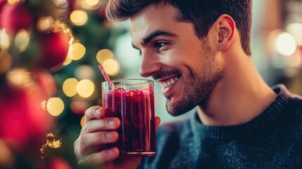
{"type": "Polygon", "coordinates": [[[149,77],[161,70],[161,63],[156,54],[142,52],[141,65],[139,66],[139,75],[142,77],[149,77]]]}

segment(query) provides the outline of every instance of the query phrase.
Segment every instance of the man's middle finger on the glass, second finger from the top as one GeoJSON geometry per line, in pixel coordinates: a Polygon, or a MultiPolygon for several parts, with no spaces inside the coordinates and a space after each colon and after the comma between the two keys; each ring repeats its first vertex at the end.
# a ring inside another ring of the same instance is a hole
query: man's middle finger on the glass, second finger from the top
{"type": "Polygon", "coordinates": [[[80,136],[91,132],[99,132],[104,130],[118,130],[120,127],[120,119],[103,118],[101,120],[90,120],[83,127],[80,136]]]}

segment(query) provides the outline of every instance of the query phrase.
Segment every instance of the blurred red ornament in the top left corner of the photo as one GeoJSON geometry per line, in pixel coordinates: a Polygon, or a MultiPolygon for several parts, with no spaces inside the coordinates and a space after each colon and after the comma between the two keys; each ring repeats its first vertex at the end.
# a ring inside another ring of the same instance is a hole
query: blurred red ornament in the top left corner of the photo
{"type": "Polygon", "coordinates": [[[26,6],[19,4],[5,4],[1,10],[1,27],[6,28],[8,33],[15,33],[21,29],[29,29],[33,26],[34,19],[26,6]]]}

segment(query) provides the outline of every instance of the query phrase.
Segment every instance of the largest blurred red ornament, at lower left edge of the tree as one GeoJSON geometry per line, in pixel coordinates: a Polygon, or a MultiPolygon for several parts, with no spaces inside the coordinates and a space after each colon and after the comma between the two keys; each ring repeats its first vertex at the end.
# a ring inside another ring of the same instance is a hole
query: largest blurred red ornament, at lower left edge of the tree
{"type": "Polygon", "coordinates": [[[46,99],[56,89],[50,76],[46,71],[33,73],[25,87],[9,82],[0,85],[0,138],[16,152],[39,152],[46,131],[53,125],[54,118],[44,110],[46,99]]]}

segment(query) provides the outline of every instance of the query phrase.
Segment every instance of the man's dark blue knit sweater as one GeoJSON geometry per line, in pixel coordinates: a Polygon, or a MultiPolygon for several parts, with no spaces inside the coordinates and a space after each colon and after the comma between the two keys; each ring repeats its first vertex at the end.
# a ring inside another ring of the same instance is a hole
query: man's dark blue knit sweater
{"type": "Polygon", "coordinates": [[[209,127],[196,113],[161,125],[156,156],[139,168],[302,168],[302,98],[273,89],[277,99],[243,125],[209,127]]]}

